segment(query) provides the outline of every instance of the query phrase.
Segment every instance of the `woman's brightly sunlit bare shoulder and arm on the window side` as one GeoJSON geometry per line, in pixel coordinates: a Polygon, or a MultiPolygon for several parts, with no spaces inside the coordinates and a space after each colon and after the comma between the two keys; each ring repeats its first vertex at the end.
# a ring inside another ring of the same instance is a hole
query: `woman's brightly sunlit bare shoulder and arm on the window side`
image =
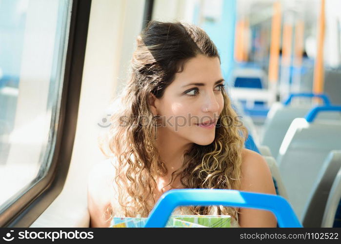
{"type": "Polygon", "coordinates": [[[96,163],[88,175],[88,210],[90,213],[91,227],[107,227],[110,213],[107,211],[111,207],[114,197],[113,180],[115,177],[115,167],[110,160],[96,163]]]}

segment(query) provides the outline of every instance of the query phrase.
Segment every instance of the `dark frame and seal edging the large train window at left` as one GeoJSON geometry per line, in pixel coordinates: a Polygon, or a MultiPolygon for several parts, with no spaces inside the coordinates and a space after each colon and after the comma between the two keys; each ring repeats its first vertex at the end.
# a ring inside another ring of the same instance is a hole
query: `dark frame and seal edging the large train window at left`
{"type": "MultiPolygon", "coordinates": [[[[73,0],[55,152],[47,175],[0,214],[1,227],[29,227],[60,194],[76,134],[91,0],[73,0]]],[[[46,226],[48,227],[48,226],[46,226]]]]}

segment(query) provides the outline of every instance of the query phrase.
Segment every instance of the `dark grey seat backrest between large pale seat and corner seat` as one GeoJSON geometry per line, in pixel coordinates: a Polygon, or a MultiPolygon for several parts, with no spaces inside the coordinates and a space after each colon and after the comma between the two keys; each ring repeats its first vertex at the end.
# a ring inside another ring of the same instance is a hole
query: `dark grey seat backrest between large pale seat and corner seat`
{"type": "Polygon", "coordinates": [[[302,214],[304,227],[321,227],[324,209],[335,177],[341,167],[341,151],[331,151],[324,161],[302,214]]]}

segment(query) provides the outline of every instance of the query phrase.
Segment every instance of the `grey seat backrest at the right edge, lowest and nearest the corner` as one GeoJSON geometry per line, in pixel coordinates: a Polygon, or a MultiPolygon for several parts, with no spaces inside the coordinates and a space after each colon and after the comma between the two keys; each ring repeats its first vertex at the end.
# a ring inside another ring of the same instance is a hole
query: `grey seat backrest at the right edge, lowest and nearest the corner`
{"type": "Polygon", "coordinates": [[[330,189],[328,201],[325,206],[323,214],[321,227],[333,227],[333,224],[335,224],[335,218],[339,217],[336,216],[336,214],[338,208],[340,208],[340,201],[341,201],[341,169],[339,169],[339,172],[335,177],[334,183],[332,185],[332,188],[330,189]]]}

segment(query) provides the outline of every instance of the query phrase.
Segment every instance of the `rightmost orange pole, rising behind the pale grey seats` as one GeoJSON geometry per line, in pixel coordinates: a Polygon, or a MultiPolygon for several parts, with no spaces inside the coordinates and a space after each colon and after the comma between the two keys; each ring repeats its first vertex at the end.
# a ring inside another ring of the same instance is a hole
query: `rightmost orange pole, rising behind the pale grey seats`
{"type": "Polygon", "coordinates": [[[317,45],[317,55],[314,67],[314,93],[322,93],[324,86],[324,70],[323,70],[323,43],[324,43],[324,27],[325,27],[325,13],[324,13],[324,0],[321,0],[321,13],[318,20],[319,36],[317,45]]]}

